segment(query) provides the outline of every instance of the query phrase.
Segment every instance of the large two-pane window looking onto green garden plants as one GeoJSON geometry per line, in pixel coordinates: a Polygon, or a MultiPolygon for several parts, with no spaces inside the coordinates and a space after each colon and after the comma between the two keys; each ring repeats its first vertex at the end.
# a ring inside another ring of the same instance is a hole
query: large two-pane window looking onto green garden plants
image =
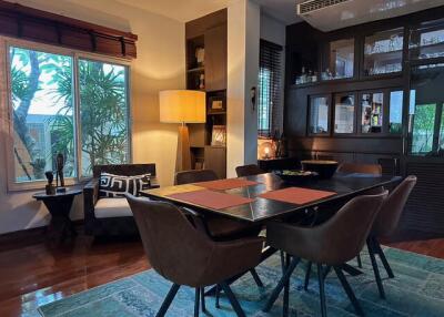
{"type": "Polygon", "coordinates": [[[16,183],[43,181],[59,153],[67,178],[129,161],[128,67],[19,45],[8,67],[16,183]]]}

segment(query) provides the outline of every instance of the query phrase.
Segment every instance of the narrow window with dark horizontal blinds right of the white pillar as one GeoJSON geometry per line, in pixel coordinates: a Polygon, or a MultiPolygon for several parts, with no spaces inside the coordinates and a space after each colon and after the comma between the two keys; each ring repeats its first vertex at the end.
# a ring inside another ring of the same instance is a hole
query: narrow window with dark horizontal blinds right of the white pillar
{"type": "Polygon", "coordinates": [[[282,47],[261,40],[259,60],[258,134],[271,136],[282,121],[282,47]]]}

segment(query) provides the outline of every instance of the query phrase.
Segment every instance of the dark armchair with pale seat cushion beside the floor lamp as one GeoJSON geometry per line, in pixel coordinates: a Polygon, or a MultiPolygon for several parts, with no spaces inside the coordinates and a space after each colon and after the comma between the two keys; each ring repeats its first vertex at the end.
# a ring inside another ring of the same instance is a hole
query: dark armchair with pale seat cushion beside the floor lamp
{"type": "Polygon", "coordinates": [[[159,187],[155,164],[95,165],[92,180],[83,187],[84,232],[92,236],[137,235],[138,227],[124,197],[100,197],[100,175],[151,174],[150,188],[159,187]]]}

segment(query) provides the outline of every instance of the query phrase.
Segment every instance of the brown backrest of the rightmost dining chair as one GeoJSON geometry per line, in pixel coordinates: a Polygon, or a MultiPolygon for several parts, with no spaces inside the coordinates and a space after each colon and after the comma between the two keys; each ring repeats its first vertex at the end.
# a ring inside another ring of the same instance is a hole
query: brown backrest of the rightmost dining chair
{"type": "Polygon", "coordinates": [[[373,224],[372,235],[389,236],[397,227],[408,196],[416,185],[416,176],[407,176],[385,200],[373,224]]]}

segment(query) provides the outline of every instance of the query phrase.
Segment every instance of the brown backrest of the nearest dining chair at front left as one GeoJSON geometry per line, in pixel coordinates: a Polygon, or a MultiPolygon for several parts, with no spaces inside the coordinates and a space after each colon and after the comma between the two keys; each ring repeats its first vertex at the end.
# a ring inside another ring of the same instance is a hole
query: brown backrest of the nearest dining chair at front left
{"type": "Polygon", "coordinates": [[[174,205],[127,196],[152,267],[180,285],[195,285],[211,258],[213,242],[174,205]]]}

